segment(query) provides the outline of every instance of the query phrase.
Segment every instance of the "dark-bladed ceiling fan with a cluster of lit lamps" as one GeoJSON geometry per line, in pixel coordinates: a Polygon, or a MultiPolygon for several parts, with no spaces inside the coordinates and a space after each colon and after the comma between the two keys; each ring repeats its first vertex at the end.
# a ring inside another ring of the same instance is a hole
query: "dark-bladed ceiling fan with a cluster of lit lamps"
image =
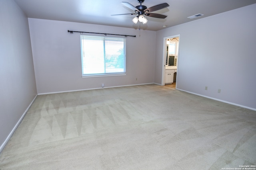
{"type": "MultiPolygon", "coordinates": [[[[144,16],[149,16],[149,17],[154,17],[154,18],[161,18],[161,19],[164,19],[164,18],[167,17],[167,16],[162,15],[162,14],[156,14],[156,13],[151,13],[151,12],[167,8],[169,6],[169,4],[163,3],[163,4],[158,4],[156,6],[152,6],[152,7],[148,8],[144,5],[142,5],[143,2],[144,2],[144,0],[138,0],[138,3],[140,3],[140,5],[138,5],[138,6],[133,6],[129,2],[121,2],[124,6],[134,10],[135,13],[132,13],[130,15],[138,15],[138,16],[136,16],[132,19],[132,21],[135,24],[138,21],[142,22],[143,24],[147,23],[148,20],[144,16]]],[[[117,15],[129,15],[129,14],[115,14],[115,15],[112,15],[112,16],[117,16],[117,15]]]]}

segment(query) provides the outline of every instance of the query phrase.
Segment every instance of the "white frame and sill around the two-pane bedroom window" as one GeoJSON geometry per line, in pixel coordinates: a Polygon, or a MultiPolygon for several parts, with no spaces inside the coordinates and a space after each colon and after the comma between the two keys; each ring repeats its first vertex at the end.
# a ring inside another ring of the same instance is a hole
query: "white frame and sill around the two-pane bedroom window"
{"type": "Polygon", "coordinates": [[[84,34],[81,34],[80,35],[80,45],[81,45],[81,66],[82,66],[82,78],[89,78],[89,77],[104,77],[104,76],[125,76],[126,75],[126,38],[123,38],[123,37],[106,37],[106,36],[97,36],[97,35],[84,35],[84,34]],[[103,43],[104,43],[104,64],[106,64],[106,49],[105,49],[105,39],[108,39],[108,38],[112,38],[112,39],[123,39],[123,43],[124,43],[124,47],[123,47],[123,55],[124,55],[124,72],[106,72],[105,70],[105,73],[95,73],[95,74],[84,74],[84,61],[83,61],[83,57],[84,57],[84,54],[83,54],[83,43],[82,43],[82,39],[83,39],[83,36],[87,36],[87,37],[102,37],[104,39],[103,43]]]}

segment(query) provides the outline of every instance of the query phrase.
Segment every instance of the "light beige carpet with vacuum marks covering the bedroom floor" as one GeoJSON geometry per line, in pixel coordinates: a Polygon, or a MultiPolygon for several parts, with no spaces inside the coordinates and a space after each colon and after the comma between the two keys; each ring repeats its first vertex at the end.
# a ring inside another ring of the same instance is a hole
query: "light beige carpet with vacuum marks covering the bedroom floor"
{"type": "Polygon", "coordinates": [[[256,164],[256,111],[155,84],[40,95],[1,170],[221,170],[256,164]]]}

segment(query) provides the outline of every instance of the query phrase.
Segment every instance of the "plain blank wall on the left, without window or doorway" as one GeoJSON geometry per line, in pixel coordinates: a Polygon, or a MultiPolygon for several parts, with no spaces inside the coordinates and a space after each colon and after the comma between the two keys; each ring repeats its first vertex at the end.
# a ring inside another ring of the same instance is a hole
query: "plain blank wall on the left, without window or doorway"
{"type": "Polygon", "coordinates": [[[28,18],[0,0],[0,151],[36,96],[28,18]],[[34,92],[33,92],[34,90],[34,92]]]}

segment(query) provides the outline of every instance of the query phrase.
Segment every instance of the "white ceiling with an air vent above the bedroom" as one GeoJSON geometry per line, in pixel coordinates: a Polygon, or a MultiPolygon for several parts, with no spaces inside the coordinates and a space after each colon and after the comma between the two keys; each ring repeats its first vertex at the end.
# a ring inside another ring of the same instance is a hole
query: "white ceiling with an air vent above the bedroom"
{"type": "MultiPolygon", "coordinates": [[[[134,13],[130,8],[123,6],[122,1],[129,2],[133,6],[140,5],[137,0],[14,0],[25,12],[28,18],[40,18],[46,20],[72,21],[80,23],[93,23],[145,29],[157,31],[166,27],[172,27],[200,18],[212,16],[250,4],[256,0],[145,0],[142,5],[150,8],[167,2],[168,8],[153,13],[163,14],[165,19],[146,17],[148,23],[134,24],[134,15],[111,16],[113,14],[134,13]],[[187,17],[196,14],[204,14],[198,18],[187,17]]],[[[252,16],[255,17],[255,16],[252,16]]],[[[227,21],[228,22],[228,21],[227,21]]]]}

